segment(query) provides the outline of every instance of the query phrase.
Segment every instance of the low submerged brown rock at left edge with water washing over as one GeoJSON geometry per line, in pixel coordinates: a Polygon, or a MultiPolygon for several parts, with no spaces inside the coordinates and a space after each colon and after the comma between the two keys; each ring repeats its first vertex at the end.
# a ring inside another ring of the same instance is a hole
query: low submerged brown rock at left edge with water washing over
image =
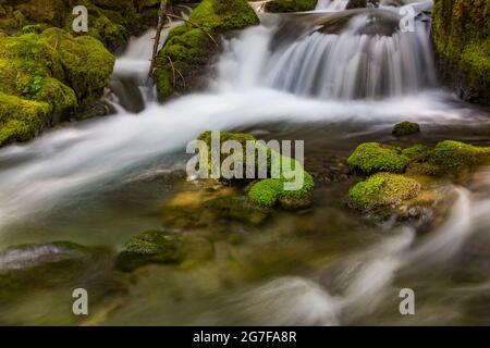
{"type": "Polygon", "coordinates": [[[62,288],[71,301],[74,288],[90,293],[91,302],[108,293],[123,291],[112,277],[113,253],[102,247],[70,241],[30,244],[0,251],[0,304],[30,291],[62,288]]]}

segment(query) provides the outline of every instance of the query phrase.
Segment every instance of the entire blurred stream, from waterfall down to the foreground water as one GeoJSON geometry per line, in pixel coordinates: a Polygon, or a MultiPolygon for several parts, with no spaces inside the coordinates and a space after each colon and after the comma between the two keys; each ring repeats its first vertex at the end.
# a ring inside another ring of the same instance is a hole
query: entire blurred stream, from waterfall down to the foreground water
{"type": "MultiPolygon", "coordinates": [[[[133,39],[111,83],[118,114],[0,150],[0,247],[71,240],[120,250],[132,236],[167,228],[166,202],[189,190],[175,174],[185,146],[206,129],[304,139],[307,170],[322,173],[359,142],[396,144],[390,129],[399,121],[420,123],[418,140],[488,144],[490,113],[438,86],[422,15],[415,33],[400,33],[395,2],[343,11],[345,2],[261,13],[260,26],[223,42],[206,91],[166,104],[145,87],[154,33],[133,39]]],[[[198,266],[127,275],[99,261],[101,278],[79,274],[96,293],[88,320],[68,310],[73,283],[61,282],[30,284],[33,293],[0,303],[0,323],[488,324],[489,170],[449,187],[453,206],[424,235],[347,210],[354,182],[319,184],[313,209],[279,211],[261,227],[229,221],[183,231],[212,246],[198,266]],[[405,287],[416,291],[413,316],[399,312],[405,287]]],[[[57,254],[50,248],[2,253],[0,270],[28,268],[57,254]]]]}

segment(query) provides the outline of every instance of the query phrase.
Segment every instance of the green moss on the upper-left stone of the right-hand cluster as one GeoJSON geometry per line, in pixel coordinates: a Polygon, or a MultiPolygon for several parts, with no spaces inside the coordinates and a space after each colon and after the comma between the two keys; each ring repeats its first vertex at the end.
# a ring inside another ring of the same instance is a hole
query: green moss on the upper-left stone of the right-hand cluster
{"type": "Polygon", "coordinates": [[[378,142],[365,142],[347,159],[351,169],[365,174],[377,172],[403,173],[409,159],[395,148],[378,142]]]}

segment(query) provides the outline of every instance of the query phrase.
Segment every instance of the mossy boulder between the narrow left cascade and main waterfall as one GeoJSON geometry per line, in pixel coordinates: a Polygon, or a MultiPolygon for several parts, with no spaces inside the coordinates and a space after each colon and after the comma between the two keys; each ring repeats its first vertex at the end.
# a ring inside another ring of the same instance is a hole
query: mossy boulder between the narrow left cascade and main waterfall
{"type": "Polygon", "coordinates": [[[160,100],[201,88],[218,36],[259,23],[246,0],[204,0],[186,23],[174,28],[160,50],[155,78],[160,100]]]}

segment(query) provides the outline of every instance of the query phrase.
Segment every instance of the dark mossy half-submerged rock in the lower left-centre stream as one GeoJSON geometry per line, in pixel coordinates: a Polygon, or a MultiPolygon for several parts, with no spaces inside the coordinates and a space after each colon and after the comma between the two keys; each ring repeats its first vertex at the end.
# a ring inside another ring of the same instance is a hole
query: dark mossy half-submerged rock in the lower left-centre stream
{"type": "Polygon", "coordinates": [[[148,231],[130,239],[117,259],[117,268],[132,272],[147,264],[194,265],[213,256],[209,240],[162,231],[148,231]]]}

